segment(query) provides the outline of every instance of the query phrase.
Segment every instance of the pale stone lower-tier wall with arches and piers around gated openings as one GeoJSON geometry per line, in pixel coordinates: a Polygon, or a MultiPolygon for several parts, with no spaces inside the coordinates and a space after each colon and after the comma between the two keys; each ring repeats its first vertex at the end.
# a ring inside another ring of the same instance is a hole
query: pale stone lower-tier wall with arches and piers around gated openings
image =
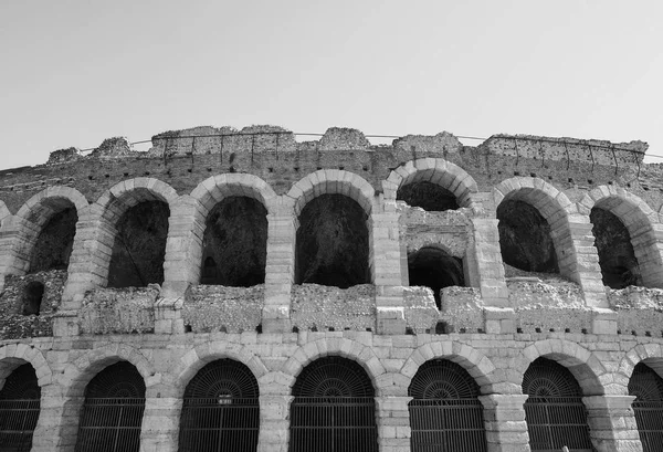
{"type": "Polygon", "coordinates": [[[634,425],[630,424],[633,417],[628,409],[632,398],[625,396],[629,376],[640,361],[662,360],[663,349],[661,339],[654,337],[559,332],[507,336],[476,333],[385,336],[351,330],[110,335],[4,343],[0,345],[0,370],[11,370],[8,362],[14,362],[14,357],[35,367],[43,413],[33,450],[64,451],[76,441],[85,383],[108,362],[128,360],[147,386],[143,449],[176,451],[179,407],[186,385],[206,364],[234,359],[246,365],[259,382],[259,451],[285,451],[291,386],[303,367],[324,356],[356,360],[367,371],[376,390],[379,440],[388,443],[380,446],[385,452],[409,450],[408,386],[420,366],[436,358],[459,364],[475,379],[486,419],[503,416],[519,419],[487,422],[490,449],[528,450],[520,385],[529,364],[538,357],[557,360],[570,369],[589,409],[594,448],[617,452],[640,446],[636,431],[627,434],[634,425]],[[622,408],[593,409],[597,403],[620,400],[622,408]],[[508,407],[501,406],[507,402],[508,407]],[[624,427],[624,422],[631,427],[624,427]]]}

